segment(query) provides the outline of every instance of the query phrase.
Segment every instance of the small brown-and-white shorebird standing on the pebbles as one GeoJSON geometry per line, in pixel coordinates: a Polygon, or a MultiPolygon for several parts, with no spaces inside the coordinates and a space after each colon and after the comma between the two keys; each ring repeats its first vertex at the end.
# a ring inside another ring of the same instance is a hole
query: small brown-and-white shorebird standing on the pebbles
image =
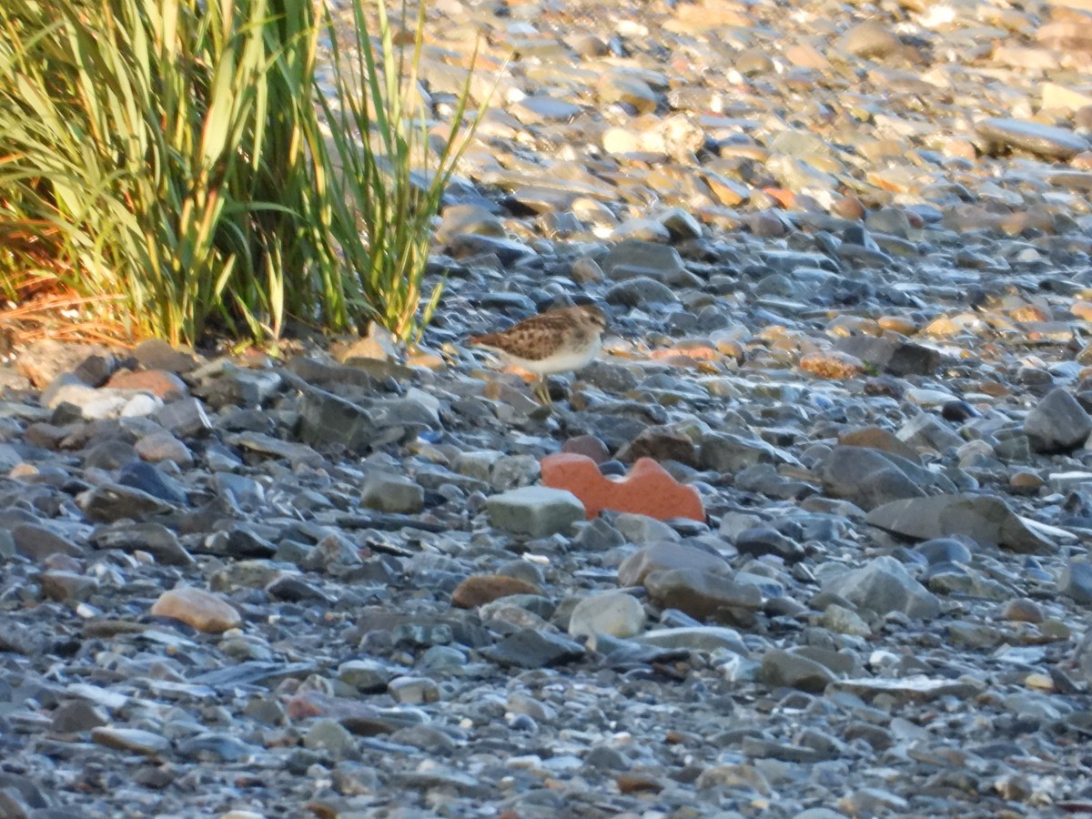
{"type": "Polygon", "coordinates": [[[607,319],[594,305],[561,307],[508,330],[471,336],[470,343],[497,353],[508,364],[538,376],[535,395],[550,404],[546,376],[579,370],[600,353],[607,319]]]}

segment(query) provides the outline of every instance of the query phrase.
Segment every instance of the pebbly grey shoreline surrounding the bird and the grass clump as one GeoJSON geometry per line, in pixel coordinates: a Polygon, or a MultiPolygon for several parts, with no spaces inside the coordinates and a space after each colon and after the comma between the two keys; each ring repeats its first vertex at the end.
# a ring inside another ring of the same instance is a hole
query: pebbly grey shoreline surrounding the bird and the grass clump
{"type": "Polygon", "coordinates": [[[440,119],[479,31],[419,345],[0,371],[0,817],[1092,811],[1092,11],[442,0],[440,119]]]}

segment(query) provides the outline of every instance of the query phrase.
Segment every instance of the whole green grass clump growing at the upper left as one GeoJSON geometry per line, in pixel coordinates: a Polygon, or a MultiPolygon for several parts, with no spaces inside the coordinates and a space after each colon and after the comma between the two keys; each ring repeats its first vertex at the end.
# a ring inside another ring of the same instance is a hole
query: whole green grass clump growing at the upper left
{"type": "Polygon", "coordinates": [[[331,37],[333,104],[331,19],[308,1],[0,3],[4,295],[45,288],[173,343],[268,339],[288,316],[418,332],[429,219],[474,123],[456,142],[464,93],[429,154],[407,116],[425,2],[408,56],[377,2],[377,59],[364,1],[349,47],[331,37]]]}

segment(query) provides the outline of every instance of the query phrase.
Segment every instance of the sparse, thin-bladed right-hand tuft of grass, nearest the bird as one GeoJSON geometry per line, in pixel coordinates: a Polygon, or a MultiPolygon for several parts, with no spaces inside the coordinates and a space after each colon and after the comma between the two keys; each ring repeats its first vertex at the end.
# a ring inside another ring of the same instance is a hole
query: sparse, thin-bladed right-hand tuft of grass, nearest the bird
{"type": "MultiPolygon", "coordinates": [[[[464,127],[471,75],[460,90],[451,128],[434,149],[429,123],[417,94],[425,39],[425,3],[416,15],[403,0],[401,20],[412,28],[396,36],[385,4],[377,4],[378,47],[367,47],[368,23],[360,3],[353,5],[357,41],[346,50],[332,38],[336,106],[320,97],[330,124],[339,206],[335,233],[346,260],[360,271],[361,288],[376,320],[396,336],[419,336],[436,310],[442,282],[426,293],[425,270],[432,238],[431,219],[444,188],[485,112],[488,97],[464,127]],[[364,35],[363,37],[360,35],[364,35]],[[395,40],[407,41],[400,47],[395,40]],[[359,225],[363,230],[357,230],[359,225]]],[[[471,64],[477,62],[475,48],[471,64]]],[[[491,96],[491,95],[490,95],[491,96]]]]}

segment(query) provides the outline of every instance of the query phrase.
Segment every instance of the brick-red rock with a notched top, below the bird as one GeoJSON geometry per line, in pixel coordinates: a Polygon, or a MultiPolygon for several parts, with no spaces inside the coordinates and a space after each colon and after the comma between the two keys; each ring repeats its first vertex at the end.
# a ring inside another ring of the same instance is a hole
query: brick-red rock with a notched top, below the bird
{"type": "Polygon", "coordinates": [[[587,518],[604,509],[636,512],[657,520],[691,518],[705,520],[701,497],[692,486],[682,486],[651,458],[641,458],[626,477],[604,476],[585,455],[558,452],[539,462],[543,484],[568,489],[584,505],[587,518]]]}

